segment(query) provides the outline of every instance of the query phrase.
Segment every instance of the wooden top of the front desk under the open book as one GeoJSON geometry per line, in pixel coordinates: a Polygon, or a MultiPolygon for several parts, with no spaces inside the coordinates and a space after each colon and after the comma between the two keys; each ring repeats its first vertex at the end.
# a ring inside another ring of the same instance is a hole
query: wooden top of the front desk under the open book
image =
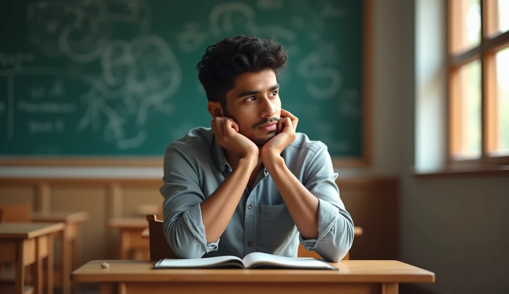
{"type": "Polygon", "coordinates": [[[433,283],[435,274],[395,260],[345,260],[339,271],[151,269],[149,260],[92,260],[71,274],[73,282],[397,282],[433,283]],[[107,262],[109,269],[102,269],[107,262]]]}

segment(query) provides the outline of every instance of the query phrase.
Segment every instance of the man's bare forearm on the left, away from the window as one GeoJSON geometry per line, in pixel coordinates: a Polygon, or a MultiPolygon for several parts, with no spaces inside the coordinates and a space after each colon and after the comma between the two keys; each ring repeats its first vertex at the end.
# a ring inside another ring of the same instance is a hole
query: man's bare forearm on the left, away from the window
{"type": "Polygon", "coordinates": [[[256,166],[254,162],[240,159],[230,176],[200,204],[207,243],[216,242],[228,226],[256,166]]]}

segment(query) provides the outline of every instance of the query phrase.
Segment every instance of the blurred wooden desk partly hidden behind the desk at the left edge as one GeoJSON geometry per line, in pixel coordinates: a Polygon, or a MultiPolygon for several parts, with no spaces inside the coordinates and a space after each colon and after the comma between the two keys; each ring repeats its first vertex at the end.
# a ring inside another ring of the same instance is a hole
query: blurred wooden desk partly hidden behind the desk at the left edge
{"type": "Polygon", "coordinates": [[[71,271],[81,266],[80,224],[89,218],[86,211],[80,212],[34,212],[33,222],[62,222],[65,227],[61,233],[62,272],[54,275],[55,284],[62,286],[62,293],[71,292],[71,271]]]}

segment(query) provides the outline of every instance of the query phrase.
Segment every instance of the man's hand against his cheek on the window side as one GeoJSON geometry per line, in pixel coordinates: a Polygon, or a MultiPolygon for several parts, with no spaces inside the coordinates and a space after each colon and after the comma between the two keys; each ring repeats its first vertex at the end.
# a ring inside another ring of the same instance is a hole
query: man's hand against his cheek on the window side
{"type": "Polygon", "coordinates": [[[281,109],[281,117],[277,123],[277,130],[280,130],[280,133],[263,145],[262,160],[264,163],[274,156],[280,156],[281,152],[295,140],[295,130],[299,119],[285,109],[281,109]]]}

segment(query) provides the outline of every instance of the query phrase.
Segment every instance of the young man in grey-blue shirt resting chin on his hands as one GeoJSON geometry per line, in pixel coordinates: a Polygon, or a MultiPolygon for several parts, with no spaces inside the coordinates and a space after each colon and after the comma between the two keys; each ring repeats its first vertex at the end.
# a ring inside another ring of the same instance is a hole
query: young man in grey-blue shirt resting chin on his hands
{"type": "Polygon", "coordinates": [[[197,65],[211,128],[164,155],[163,220],[179,258],[296,256],[299,242],[337,262],[352,246],[327,146],[296,133],[277,84],[287,54],[252,36],[209,46],[197,65]]]}

